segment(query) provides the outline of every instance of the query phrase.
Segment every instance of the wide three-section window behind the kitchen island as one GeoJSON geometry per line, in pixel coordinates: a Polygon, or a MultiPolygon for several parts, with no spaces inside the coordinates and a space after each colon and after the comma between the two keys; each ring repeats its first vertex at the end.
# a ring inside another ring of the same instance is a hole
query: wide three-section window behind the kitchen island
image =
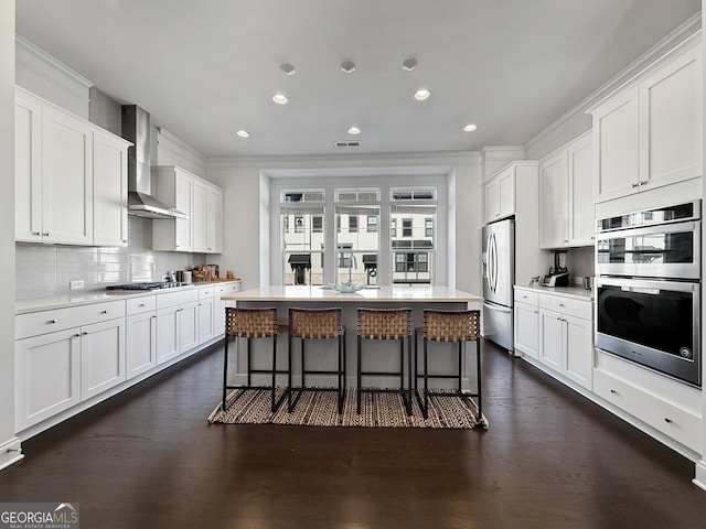
{"type": "MultiPolygon", "coordinates": [[[[443,184],[441,177],[427,181],[443,184]]],[[[357,188],[325,181],[309,190],[291,186],[291,179],[272,182],[270,201],[279,201],[280,213],[278,220],[272,216],[270,233],[277,237],[279,228],[280,250],[277,253],[274,249],[270,262],[280,272],[271,272],[271,281],[308,285],[349,279],[364,284],[435,283],[437,252],[445,251],[437,248],[437,238],[443,236],[437,226],[446,226],[446,216],[437,217],[438,187],[409,185],[393,192],[385,184],[357,188]]],[[[446,191],[439,199],[446,201],[446,191]]],[[[445,255],[441,266],[446,267],[445,255]]],[[[446,280],[445,274],[440,280],[446,280]]]]}

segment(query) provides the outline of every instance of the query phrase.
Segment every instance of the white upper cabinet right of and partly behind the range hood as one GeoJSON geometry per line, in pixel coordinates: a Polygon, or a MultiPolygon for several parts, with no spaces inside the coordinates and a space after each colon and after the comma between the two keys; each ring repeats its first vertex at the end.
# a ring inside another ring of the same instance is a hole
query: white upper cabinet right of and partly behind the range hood
{"type": "Polygon", "coordinates": [[[154,219],[152,249],[217,253],[223,248],[223,190],[178,166],[152,168],[153,193],[188,219],[154,219]]]}

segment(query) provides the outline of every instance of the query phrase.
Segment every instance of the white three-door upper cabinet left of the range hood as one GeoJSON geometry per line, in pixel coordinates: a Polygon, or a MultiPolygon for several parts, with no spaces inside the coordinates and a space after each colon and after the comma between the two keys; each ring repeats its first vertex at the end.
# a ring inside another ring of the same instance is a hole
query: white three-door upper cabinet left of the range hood
{"type": "Polygon", "coordinates": [[[127,244],[129,143],[15,90],[15,240],[127,244]]]}

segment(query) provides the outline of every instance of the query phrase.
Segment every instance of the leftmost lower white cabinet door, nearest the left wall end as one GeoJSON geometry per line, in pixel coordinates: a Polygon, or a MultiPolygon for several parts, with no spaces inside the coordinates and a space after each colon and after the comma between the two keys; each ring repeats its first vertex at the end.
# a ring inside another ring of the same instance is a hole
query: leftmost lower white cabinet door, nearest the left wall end
{"type": "Polygon", "coordinates": [[[78,328],[18,339],[14,384],[18,432],[81,402],[78,328]]]}

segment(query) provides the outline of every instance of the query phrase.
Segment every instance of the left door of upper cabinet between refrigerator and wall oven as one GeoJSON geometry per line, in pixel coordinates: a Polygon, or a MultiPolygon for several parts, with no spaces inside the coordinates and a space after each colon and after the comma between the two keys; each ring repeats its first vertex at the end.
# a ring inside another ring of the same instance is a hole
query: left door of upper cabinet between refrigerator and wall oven
{"type": "Polygon", "coordinates": [[[568,160],[566,151],[542,162],[539,170],[539,246],[568,244],[568,160]]]}

